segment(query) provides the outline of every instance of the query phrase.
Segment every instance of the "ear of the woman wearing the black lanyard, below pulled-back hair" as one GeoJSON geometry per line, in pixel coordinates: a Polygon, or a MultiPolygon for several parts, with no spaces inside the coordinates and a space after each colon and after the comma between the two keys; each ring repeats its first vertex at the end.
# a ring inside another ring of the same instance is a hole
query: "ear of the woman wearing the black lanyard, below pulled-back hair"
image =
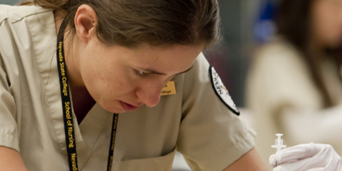
{"type": "Polygon", "coordinates": [[[82,42],[95,35],[96,12],[89,5],[80,5],[75,14],[76,34],[82,42]]]}

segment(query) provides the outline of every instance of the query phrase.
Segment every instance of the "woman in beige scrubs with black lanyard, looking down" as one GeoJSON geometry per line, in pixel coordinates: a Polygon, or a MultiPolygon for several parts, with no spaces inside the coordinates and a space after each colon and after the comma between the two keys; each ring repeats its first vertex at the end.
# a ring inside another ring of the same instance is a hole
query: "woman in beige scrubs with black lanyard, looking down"
{"type": "Polygon", "coordinates": [[[1,169],[263,169],[200,53],[217,1],[34,4],[0,5],[1,169]]]}

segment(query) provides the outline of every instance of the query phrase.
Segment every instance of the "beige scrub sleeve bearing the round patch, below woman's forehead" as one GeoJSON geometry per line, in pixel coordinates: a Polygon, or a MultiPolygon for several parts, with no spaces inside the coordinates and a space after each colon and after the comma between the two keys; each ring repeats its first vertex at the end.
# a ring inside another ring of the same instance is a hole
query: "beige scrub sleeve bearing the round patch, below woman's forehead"
{"type": "Polygon", "coordinates": [[[200,55],[185,75],[177,148],[193,170],[224,170],[254,146],[255,132],[215,94],[200,55]]]}

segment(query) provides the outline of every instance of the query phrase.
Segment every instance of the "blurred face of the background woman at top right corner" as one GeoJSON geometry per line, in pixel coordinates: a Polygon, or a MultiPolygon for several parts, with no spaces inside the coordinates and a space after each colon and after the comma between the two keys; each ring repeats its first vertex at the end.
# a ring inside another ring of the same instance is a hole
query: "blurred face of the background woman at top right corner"
{"type": "Polygon", "coordinates": [[[342,42],[342,0],[315,0],[311,9],[313,40],[322,47],[342,42]]]}

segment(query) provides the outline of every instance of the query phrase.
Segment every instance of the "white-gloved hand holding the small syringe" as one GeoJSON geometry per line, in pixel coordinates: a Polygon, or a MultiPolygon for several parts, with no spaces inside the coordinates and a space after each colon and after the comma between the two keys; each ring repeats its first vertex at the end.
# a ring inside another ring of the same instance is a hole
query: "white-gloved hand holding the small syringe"
{"type": "Polygon", "coordinates": [[[329,144],[300,144],[279,150],[269,157],[269,164],[274,167],[274,171],[339,171],[342,170],[341,163],[341,157],[329,144]]]}

